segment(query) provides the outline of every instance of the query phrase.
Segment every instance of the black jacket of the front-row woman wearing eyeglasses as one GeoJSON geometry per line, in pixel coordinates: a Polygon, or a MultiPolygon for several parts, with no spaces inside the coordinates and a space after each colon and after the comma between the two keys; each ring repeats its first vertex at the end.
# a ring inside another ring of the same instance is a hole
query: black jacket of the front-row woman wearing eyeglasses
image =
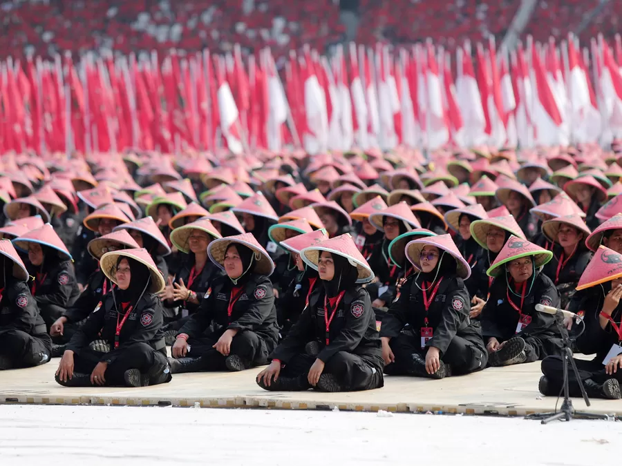
{"type": "MultiPolygon", "coordinates": [[[[424,307],[423,291],[417,284],[424,288],[422,278],[413,275],[402,285],[399,298],[391,304],[382,319],[380,336],[395,338],[406,324],[411,326],[415,335],[420,334],[422,327],[432,327],[433,338],[426,342],[426,347],[436,347],[441,354],[447,351],[455,336],[469,340],[484,351],[480,324],[469,318],[471,303],[462,279],[455,275],[445,276],[428,311],[424,307]]],[[[426,295],[429,299],[433,289],[428,290],[427,287],[429,284],[426,284],[426,295]]]]}

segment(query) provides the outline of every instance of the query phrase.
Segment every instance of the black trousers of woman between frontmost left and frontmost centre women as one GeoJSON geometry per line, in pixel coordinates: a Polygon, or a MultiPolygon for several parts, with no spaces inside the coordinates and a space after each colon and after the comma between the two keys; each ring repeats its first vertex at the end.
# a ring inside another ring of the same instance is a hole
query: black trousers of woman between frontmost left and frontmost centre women
{"type": "MultiPolygon", "coordinates": [[[[225,358],[227,356],[223,356],[216,351],[216,348],[212,348],[217,341],[218,339],[210,337],[190,338],[188,340],[190,351],[187,358],[200,358],[200,362],[198,362],[200,371],[226,371],[225,358]]],[[[249,330],[234,336],[229,351],[229,356],[240,356],[240,358],[251,362],[252,366],[265,365],[269,354],[263,338],[249,330]]]]}

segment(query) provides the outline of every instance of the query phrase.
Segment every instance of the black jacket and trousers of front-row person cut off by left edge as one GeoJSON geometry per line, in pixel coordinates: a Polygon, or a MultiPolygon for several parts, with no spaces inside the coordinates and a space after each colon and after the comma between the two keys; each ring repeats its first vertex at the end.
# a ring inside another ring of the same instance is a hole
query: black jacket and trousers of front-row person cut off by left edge
{"type": "Polygon", "coordinates": [[[52,340],[28,285],[7,278],[0,290],[0,369],[48,362],[52,340]]]}

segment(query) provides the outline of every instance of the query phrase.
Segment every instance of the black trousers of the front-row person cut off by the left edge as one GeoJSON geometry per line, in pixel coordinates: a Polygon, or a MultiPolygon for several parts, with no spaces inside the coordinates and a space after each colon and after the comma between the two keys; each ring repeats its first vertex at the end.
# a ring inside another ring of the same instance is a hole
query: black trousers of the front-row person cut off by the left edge
{"type": "Polygon", "coordinates": [[[0,330],[0,354],[8,356],[16,368],[38,366],[50,360],[52,340],[48,335],[39,338],[17,329],[0,330]]]}

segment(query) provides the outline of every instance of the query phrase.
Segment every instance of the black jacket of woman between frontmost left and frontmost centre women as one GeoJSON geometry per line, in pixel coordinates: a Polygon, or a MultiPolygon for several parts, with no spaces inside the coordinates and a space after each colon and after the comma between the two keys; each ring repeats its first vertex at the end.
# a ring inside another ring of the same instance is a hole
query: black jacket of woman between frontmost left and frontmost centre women
{"type": "Polygon", "coordinates": [[[272,282],[264,275],[252,274],[233,305],[231,315],[227,308],[232,298],[234,284],[227,276],[221,276],[211,285],[211,294],[201,302],[201,307],[180,329],[190,338],[199,338],[209,328],[208,338],[218,340],[228,329],[253,331],[272,351],[279,338],[276,326],[276,308],[272,282]],[[211,324],[211,327],[210,327],[211,324]]]}

